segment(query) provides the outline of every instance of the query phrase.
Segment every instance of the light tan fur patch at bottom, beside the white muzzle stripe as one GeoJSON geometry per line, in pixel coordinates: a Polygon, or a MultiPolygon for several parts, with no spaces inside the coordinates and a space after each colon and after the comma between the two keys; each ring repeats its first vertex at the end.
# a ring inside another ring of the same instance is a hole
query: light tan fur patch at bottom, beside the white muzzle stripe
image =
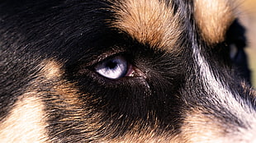
{"type": "Polygon", "coordinates": [[[185,118],[181,138],[183,141],[190,143],[216,143],[216,142],[229,142],[227,132],[223,128],[221,122],[215,117],[202,113],[199,109],[187,113],[185,118]]]}

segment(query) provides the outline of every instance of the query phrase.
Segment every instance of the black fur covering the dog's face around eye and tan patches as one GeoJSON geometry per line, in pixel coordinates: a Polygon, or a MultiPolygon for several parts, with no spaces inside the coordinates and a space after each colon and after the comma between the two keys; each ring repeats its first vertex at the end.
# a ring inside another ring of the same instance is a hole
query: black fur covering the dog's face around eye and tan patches
{"type": "Polygon", "coordinates": [[[226,107],[212,102],[215,96],[206,92],[192,62],[192,48],[201,45],[217,78],[255,108],[254,97],[247,93],[249,90],[244,93],[241,85],[250,76],[244,53],[245,30],[238,20],[230,26],[223,43],[209,46],[201,39],[192,18],[192,2],[176,0],[173,7],[183,10],[180,20],[186,26],[178,46],[167,53],[140,44],[112,28],[109,21],[115,17],[111,5],[107,0],[0,2],[1,120],[17,98],[33,86],[45,93],[42,98],[49,117],[49,127],[45,128],[53,142],[101,141],[104,137],[110,140],[133,130],[137,122],[140,122],[139,132],[159,122],[159,134],[161,131],[179,133],[186,116],[184,111],[197,107],[212,113],[224,124],[242,126],[243,121],[238,121],[226,107]],[[230,44],[239,48],[235,59],[230,59],[230,44]],[[110,80],[100,76],[94,67],[105,58],[102,55],[125,57],[145,77],[110,80]],[[40,64],[45,59],[61,62],[64,75],[61,79],[31,85],[39,77],[40,64]],[[76,108],[81,115],[76,120],[70,117],[77,116],[78,111],[68,108],[75,105],[61,104],[61,97],[51,95],[55,92],[53,87],[62,80],[73,83],[79,90],[83,106],[76,108]],[[97,113],[102,116],[95,118],[97,113]],[[88,127],[88,122],[99,127],[88,127]]]}

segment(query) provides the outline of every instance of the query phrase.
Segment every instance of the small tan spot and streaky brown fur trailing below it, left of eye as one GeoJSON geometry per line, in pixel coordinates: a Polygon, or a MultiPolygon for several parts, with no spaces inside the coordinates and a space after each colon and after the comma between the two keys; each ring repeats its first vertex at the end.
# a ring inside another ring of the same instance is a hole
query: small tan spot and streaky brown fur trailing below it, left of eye
{"type": "MultiPolygon", "coordinates": [[[[97,141],[97,132],[93,131],[97,131],[98,128],[103,126],[104,122],[100,122],[102,114],[93,113],[92,118],[84,118],[89,113],[92,113],[92,107],[88,106],[87,101],[97,101],[92,99],[92,95],[80,93],[74,83],[66,81],[63,78],[64,71],[62,71],[62,64],[60,62],[50,59],[42,62],[42,65],[41,74],[47,80],[47,85],[51,88],[50,93],[45,93],[51,95],[50,104],[55,108],[67,111],[64,113],[66,115],[65,117],[60,117],[57,120],[59,122],[83,122],[79,125],[79,129],[81,130],[80,136],[92,136],[90,139],[97,141]],[[83,101],[81,97],[83,97],[83,101]],[[85,135],[84,132],[86,132],[85,135]]],[[[69,127],[63,127],[62,131],[57,132],[55,135],[58,136],[58,134],[69,130],[69,127]]]]}

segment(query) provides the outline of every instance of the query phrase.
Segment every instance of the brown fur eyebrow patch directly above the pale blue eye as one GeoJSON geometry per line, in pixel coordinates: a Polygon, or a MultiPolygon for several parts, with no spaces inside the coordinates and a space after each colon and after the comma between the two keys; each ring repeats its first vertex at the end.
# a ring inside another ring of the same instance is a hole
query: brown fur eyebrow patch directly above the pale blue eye
{"type": "Polygon", "coordinates": [[[172,49],[181,34],[178,14],[172,3],[159,0],[114,1],[116,21],[111,24],[142,44],[153,48],[172,49]],[[117,3],[117,4],[116,4],[117,3]]]}

